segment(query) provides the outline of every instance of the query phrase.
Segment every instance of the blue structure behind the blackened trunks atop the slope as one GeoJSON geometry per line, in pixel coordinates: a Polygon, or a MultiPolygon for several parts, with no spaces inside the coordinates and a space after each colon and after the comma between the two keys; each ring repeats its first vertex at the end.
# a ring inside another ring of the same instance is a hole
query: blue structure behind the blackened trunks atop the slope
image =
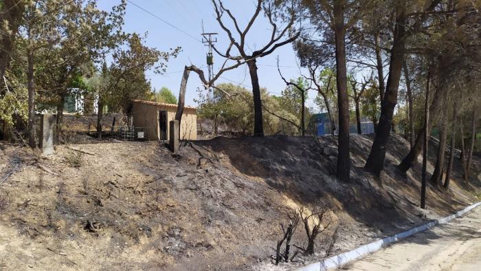
{"type": "MultiPolygon", "coordinates": [[[[335,121],[335,124],[338,125],[337,121],[335,121]]],[[[310,125],[311,129],[315,131],[316,135],[332,134],[331,120],[329,119],[328,113],[313,114],[313,116],[311,117],[310,125]]],[[[337,135],[337,131],[338,130],[336,126],[334,131],[335,135],[337,135]]],[[[361,132],[363,134],[374,133],[374,124],[366,117],[361,117],[361,132]]],[[[356,122],[351,122],[349,124],[349,133],[357,133],[356,122]]]]}

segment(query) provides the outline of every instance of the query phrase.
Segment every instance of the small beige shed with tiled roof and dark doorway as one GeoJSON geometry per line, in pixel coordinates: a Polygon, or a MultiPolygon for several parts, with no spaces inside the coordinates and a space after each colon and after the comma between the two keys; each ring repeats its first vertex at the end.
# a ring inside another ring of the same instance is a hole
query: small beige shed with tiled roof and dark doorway
{"type": "MultiPolygon", "coordinates": [[[[175,119],[177,105],[132,101],[132,124],[135,128],[144,128],[148,140],[169,140],[169,122],[175,119]]],[[[197,140],[197,108],[184,107],[180,125],[181,140],[197,140]]]]}

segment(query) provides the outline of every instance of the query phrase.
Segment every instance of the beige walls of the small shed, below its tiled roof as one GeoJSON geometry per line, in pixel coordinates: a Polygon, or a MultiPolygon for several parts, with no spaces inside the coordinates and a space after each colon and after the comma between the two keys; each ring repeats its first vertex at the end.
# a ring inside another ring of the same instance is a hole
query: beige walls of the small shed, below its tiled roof
{"type": "MultiPolygon", "coordinates": [[[[148,140],[168,140],[170,120],[175,119],[177,107],[165,107],[162,105],[148,105],[141,102],[133,102],[132,121],[134,127],[144,127],[148,140]],[[167,138],[160,138],[159,111],[167,111],[167,138]]],[[[197,140],[197,113],[195,109],[186,108],[183,111],[180,136],[182,140],[197,140]]]]}

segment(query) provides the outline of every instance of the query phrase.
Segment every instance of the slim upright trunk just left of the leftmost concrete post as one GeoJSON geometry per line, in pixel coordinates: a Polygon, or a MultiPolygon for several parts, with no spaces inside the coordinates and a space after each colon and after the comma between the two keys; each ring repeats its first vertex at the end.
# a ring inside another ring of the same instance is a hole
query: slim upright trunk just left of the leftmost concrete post
{"type": "Polygon", "coordinates": [[[35,140],[35,86],[34,86],[34,52],[27,49],[27,80],[28,80],[28,144],[32,148],[36,148],[35,140]]]}

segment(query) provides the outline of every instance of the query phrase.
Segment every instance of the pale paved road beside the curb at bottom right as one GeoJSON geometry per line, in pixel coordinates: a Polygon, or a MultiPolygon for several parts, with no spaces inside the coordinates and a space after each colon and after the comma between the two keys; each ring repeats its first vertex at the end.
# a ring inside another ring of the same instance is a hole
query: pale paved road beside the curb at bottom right
{"type": "Polygon", "coordinates": [[[350,270],[481,270],[481,206],[449,224],[403,239],[350,270]]]}

